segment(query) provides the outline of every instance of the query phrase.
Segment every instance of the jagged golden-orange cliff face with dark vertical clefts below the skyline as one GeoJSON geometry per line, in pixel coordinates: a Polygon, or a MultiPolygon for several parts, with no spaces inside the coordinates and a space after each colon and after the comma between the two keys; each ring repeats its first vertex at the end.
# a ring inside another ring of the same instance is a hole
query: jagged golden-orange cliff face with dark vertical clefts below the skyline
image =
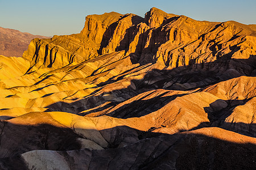
{"type": "Polygon", "coordinates": [[[116,12],[86,16],[81,33],[33,40],[24,58],[32,66],[59,68],[101,54],[125,50],[133,62],[157,62],[167,68],[247,59],[255,55],[253,25],[201,22],[151,8],[145,18],[116,12]]]}

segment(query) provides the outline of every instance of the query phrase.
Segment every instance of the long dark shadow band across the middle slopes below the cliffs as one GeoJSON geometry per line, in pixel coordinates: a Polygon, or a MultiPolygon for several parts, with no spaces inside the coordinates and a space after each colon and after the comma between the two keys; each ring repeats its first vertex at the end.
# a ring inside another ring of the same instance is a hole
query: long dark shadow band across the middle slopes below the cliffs
{"type": "MultiPolygon", "coordinates": [[[[112,78],[106,80],[106,82],[97,84],[97,86],[100,88],[92,92],[89,97],[84,96],[84,99],[81,100],[73,99],[74,101],[71,103],[65,103],[62,101],[57,102],[48,105],[46,108],[48,108],[47,112],[62,111],[79,114],[85,111],[84,113],[80,114],[84,116],[90,113],[102,112],[105,109],[112,109],[123,101],[131,99],[131,97],[151,90],[164,89],[201,91],[203,88],[212,84],[236,78],[241,75],[255,76],[255,58],[256,56],[251,56],[249,59],[220,58],[214,62],[209,63],[196,63],[195,60],[191,60],[188,66],[177,67],[171,70],[154,69],[148,71],[148,73],[144,75],[143,79],[130,80],[131,85],[127,88],[101,92],[102,88],[108,87],[109,84],[113,83],[110,86],[115,86],[114,83],[122,81],[122,79],[129,74],[129,71],[131,71],[129,70],[124,72],[122,75],[113,76],[112,78]],[[114,98],[107,99],[105,97],[106,95],[114,96],[114,98]],[[105,104],[106,102],[108,103],[105,104]]],[[[135,70],[134,73],[137,71],[139,70],[135,70]]],[[[43,88],[44,87],[40,87],[40,89],[43,88]]],[[[151,112],[157,111],[166,103],[174,100],[177,96],[156,96],[152,97],[150,100],[135,100],[132,102],[132,104],[124,105],[117,111],[108,113],[108,115],[119,118],[141,117],[151,112]],[[125,111],[126,109],[131,113],[125,111]]],[[[100,115],[102,114],[105,113],[101,113],[100,115]]]]}

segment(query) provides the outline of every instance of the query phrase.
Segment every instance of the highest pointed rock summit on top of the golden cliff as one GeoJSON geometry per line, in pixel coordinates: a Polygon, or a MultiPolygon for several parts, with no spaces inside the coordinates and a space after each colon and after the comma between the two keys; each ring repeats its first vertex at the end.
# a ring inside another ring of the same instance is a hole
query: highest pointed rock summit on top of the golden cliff
{"type": "Polygon", "coordinates": [[[150,11],[148,11],[145,14],[144,22],[148,24],[151,28],[158,27],[161,25],[164,20],[167,20],[169,18],[172,18],[174,16],[177,16],[175,14],[167,14],[166,12],[156,8],[152,7],[150,11]]]}

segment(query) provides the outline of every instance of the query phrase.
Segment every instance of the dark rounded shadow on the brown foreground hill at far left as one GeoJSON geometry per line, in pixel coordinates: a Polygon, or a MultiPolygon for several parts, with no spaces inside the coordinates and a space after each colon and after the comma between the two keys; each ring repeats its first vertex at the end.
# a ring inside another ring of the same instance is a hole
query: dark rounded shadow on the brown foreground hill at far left
{"type": "Polygon", "coordinates": [[[81,148],[81,143],[77,141],[80,135],[64,126],[61,128],[44,122],[38,122],[36,125],[19,125],[5,120],[1,120],[0,126],[0,158],[31,150],[61,151],[81,148]]]}

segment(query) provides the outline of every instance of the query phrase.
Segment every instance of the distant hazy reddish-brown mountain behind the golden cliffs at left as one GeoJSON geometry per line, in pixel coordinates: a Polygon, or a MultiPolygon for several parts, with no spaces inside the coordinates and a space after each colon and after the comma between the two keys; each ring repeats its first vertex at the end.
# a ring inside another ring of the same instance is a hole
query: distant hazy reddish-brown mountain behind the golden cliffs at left
{"type": "Polygon", "coordinates": [[[0,55],[6,57],[22,57],[32,39],[47,39],[49,37],[32,35],[15,29],[0,27],[0,55]]]}

